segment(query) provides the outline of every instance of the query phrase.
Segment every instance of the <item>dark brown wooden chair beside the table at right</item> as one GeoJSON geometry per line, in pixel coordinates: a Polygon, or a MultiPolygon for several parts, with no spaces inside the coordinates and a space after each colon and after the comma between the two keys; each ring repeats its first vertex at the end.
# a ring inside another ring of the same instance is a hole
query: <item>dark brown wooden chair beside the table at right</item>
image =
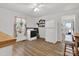
{"type": "Polygon", "coordinates": [[[73,35],[72,35],[72,41],[65,41],[64,56],[66,56],[66,52],[67,52],[67,48],[66,47],[67,46],[72,48],[73,56],[75,56],[75,52],[74,52],[75,40],[74,40],[73,35]]]}

